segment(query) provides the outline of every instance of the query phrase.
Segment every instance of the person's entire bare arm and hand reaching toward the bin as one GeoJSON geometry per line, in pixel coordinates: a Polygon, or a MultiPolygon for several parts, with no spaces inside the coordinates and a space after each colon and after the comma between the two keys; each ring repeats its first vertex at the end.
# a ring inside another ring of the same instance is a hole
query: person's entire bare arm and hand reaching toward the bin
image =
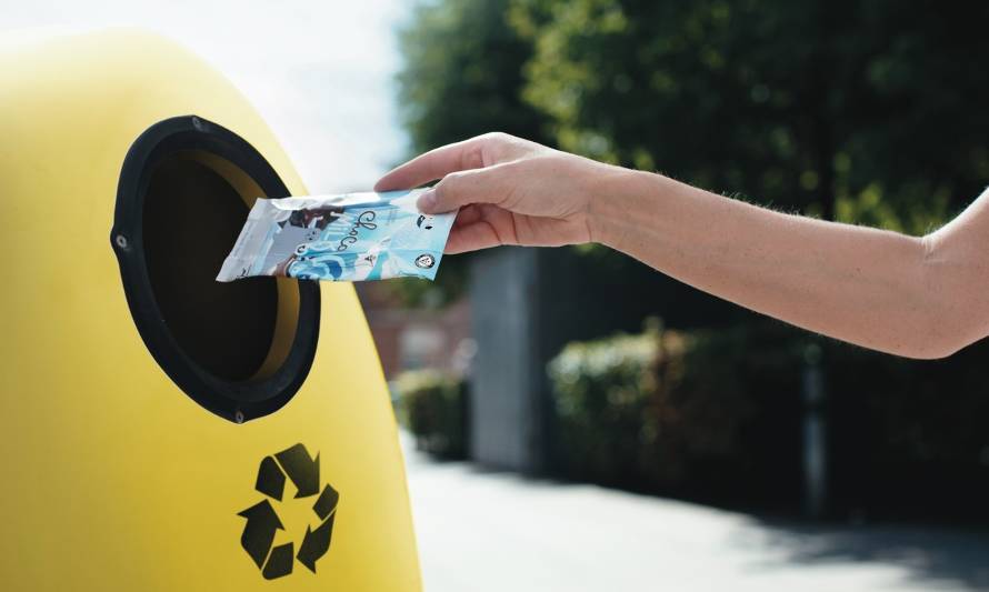
{"type": "Polygon", "coordinates": [[[442,179],[448,251],[597,241],[706,292],[836,339],[940,358],[989,334],[989,197],[923,238],[783,214],[666,177],[489,134],[378,189],[442,179]]]}

